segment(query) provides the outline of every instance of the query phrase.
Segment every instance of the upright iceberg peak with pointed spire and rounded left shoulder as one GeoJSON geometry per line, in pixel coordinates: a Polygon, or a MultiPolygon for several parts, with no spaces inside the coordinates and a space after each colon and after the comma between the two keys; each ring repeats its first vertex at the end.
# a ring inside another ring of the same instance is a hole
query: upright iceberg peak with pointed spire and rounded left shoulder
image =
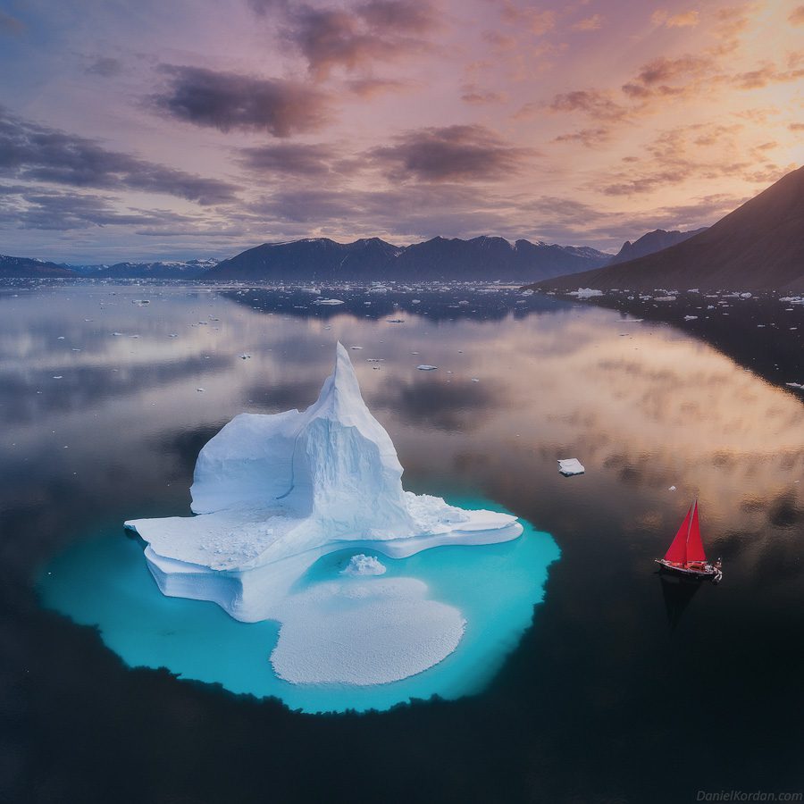
{"type": "Polygon", "coordinates": [[[365,406],[348,352],[304,413],[242,414],[201,450],[192,509],[275,508],[305,517],[297,547],[415,535],[397,451],[365,406]]]}

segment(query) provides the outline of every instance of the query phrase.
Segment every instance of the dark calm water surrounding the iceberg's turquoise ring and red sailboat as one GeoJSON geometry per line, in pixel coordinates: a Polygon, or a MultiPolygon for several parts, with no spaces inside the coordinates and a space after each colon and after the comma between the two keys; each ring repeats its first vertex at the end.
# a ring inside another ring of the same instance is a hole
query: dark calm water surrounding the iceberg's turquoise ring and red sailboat
{"type": "MultiPolygon", "coordinates": [[[[596,306],[514,290],[327,295],[347,304],[0,288],[0,800],[801,791],[800,392],[746,371],[739,345],[725,356],[596,306]],[[40,605],[38,575],[58,554],[99,532],[125,539],[132,516],[188,514],[197,452],[233,415],[314,401],[335,339],[364,347],[351,353],[364,398],[406,488],[489,498],[561,550],[532,627],[485,691],[301,715],[130,669],[95,630],[40,605]],[[439,369],[416,371],[424,363],[439,369]],[[558,457],[587,473],[562,478],[558,457]],[[718,587],[654,574],[696,495],[709,555],[724,559],[718,587]]],[[[800,318],[783,305],[768,315],[800,318]]]]}

